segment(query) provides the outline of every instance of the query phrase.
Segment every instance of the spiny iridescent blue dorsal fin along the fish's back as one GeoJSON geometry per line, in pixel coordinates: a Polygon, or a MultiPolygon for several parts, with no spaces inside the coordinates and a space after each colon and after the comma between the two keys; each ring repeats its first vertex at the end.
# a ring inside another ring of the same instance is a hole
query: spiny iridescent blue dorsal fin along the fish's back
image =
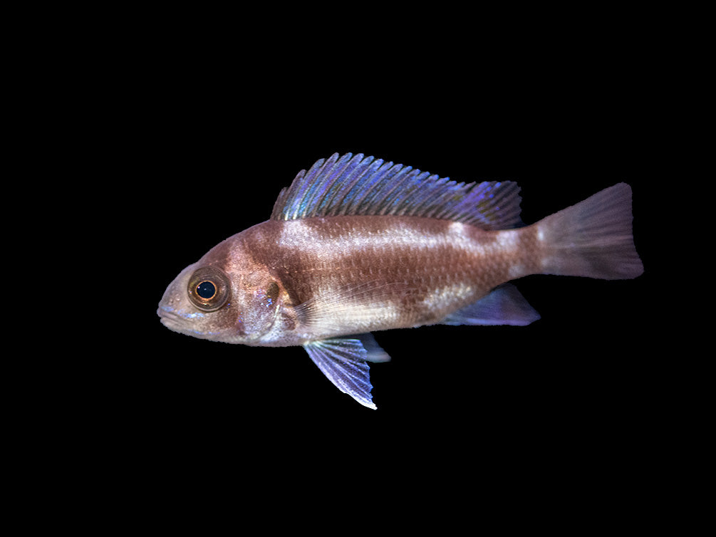
{"type": "Polygon", "coordinates": [[[521,223],[519,188],[512,181],[457,183],[360,153],[334,153],[301,170],[281,190],[271,219],[342,215],[421,216],[486,230],[521,223]]]}

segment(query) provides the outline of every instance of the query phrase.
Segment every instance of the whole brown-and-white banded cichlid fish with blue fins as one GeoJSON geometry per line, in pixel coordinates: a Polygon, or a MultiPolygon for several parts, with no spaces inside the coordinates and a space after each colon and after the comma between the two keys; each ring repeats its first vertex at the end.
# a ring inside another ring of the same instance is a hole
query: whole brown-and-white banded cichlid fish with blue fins
{"type": "Polygon", "coordinates": [[[159,304],[175,332],[228,343],[302,345],[339,390],[375,408],[370,332],[539,319],[508,281],[644,271],[632,189],[606,188],[531,226],[511,181],[457,183],[364,155],[334,154],[284,188],[269,221],[184,269],[159,304]],[[358,335],[356,335],[358,334],[358,335]]]}

